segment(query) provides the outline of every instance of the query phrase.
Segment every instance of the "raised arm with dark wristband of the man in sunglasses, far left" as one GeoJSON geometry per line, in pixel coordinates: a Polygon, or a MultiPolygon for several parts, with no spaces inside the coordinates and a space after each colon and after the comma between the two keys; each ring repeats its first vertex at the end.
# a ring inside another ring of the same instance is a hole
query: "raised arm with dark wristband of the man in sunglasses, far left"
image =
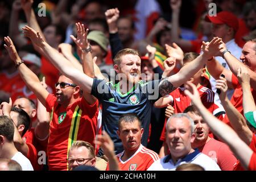
{"type": "Polygon", "coordinates": [[[5,37],[5,43],[5,48],[7,49],[9,56],[14,61],[14,63],[18,65],[18,71],[20,76],[22,77],[28,88],[30,88],[30,90],[34,92],[36,97],[45,106],[46,98],[49,94],[48,91],[43,88],[39,78],[35,75],[35,73],[32,72],[25,64],[21,64],[23,62],[20,59],[13,44],[13,41],[11,40],[11,38],[9,38],[9,36],[5,37]]]}

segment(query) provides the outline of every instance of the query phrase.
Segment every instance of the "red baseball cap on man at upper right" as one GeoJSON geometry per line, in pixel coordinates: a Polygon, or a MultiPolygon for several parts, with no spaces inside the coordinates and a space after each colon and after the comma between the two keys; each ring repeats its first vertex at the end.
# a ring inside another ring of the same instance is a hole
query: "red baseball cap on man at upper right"
{"type": "Polygon", "coordinates": [[[206,15],[205,20],[215,24],[226,24],[229,27],[234,28],[234,31],[237,31],[239,28],[237,16],[229,11],[221,11],[220,13],[217,13],[216,16],[206,15]]]}

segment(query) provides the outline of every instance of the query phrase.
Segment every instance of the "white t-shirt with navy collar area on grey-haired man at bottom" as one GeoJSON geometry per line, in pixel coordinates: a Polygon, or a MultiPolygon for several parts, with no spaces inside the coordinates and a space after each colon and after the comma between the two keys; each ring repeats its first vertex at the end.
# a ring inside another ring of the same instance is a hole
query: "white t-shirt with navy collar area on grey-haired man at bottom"
{"type": "Polygon", "coordinates": [[[171,155],[164,156],[163,158],[154,162],[147,171],[175,171],[181,164],[192,163],[198,164],[205,169],[205,171],[221,171],[218,164],[214,162],[209,156],[201,153],[199,150],[188,154],[183,159],[179,159],[176,164],[172,162],[171,155]]]}

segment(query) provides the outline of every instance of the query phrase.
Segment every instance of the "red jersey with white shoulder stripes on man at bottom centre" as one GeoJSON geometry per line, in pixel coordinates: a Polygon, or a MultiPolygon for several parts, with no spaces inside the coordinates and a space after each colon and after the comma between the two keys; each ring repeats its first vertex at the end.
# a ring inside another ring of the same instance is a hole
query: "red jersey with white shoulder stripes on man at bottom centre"
{"type": "MultiPolygon", "coordinates": [[[[135,154],[126,161],[121,159],[123,152],[117,154],[118,165],[122,171],[146,171],[152,163],[159,159],[159,155],[156,152],[149,150],[142,144],[135,154]]],[[[106,171],[109,171],[109,163],[106,171]]]]}

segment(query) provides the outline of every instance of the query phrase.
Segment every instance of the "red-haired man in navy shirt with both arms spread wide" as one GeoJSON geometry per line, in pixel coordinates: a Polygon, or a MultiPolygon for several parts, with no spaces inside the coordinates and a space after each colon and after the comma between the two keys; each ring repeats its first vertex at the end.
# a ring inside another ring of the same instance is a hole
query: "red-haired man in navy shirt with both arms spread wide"
{"type": "Polygon", "coordinates": [[[55,49],[47,44],[40,35],[32,28],[23,28],[25,36],[42,48],[49,60],[65,76],[71,78],[86,93],[91,93],[102,102],[102,125],[115,143],[115,152],[122,152],[122,142],[118,138],[118,117],[125,113],[135,113],[142,120],[144,134],[142,144],[147,146],[148,128],[152,102],[172,92],[193,76],[200,67],[205,64],[212,55],[218,52],[221,39],[214,38],[208,46],[204,44],[204,53],[197,57],[190,64],[185,65],[176,75],[165,80],[154,80],[144,82],[141,77],[141,59],[139,53],[134,49],[122,49],[114,59],[114,69],[118,73],[119,82],[114,85],[112,82],[90,78],[84,73],[78,72],[65,57],[61,56],[55,49]],[[159,86],[159,90],[158,90],[159,86]]]}

